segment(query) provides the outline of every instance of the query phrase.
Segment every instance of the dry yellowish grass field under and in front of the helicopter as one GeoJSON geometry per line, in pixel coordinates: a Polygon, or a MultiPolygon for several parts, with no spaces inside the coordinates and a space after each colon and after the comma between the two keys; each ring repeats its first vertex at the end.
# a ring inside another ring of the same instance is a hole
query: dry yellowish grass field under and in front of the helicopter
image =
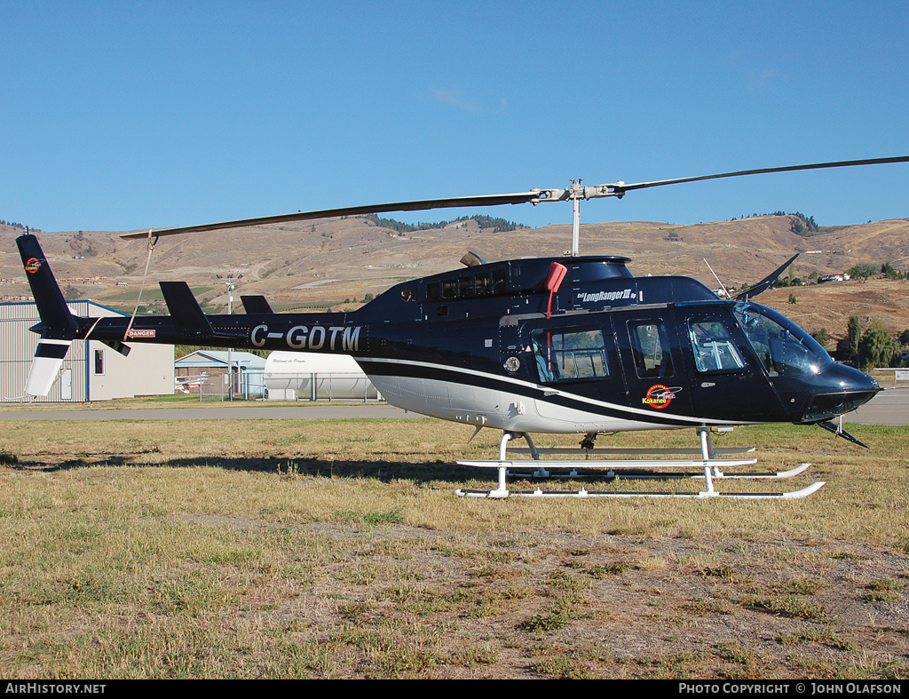
{"type": "Polygon", "coordinates": [[[802,501],[488,501],[435,420],[5,423],[0,676],[906,678],[909,428],[848,429],[718,441],[802,501]]]}

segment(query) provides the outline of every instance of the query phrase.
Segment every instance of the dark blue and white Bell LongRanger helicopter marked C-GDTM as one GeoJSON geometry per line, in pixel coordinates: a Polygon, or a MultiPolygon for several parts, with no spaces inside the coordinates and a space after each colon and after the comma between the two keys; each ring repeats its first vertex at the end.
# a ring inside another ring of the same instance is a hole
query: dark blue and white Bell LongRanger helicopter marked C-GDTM
{"type": "MultiPolygon", "coordinates": [[[[70,345],[96,340],[121,354],[133,343],[245,347],[258,350],[349,354],[385,400],[397,407],[502,431],[497,459],[459,461],[492,468],[490,491],[458,490],[464,496],[504,498],[731,497],[798,499],[824,483],[784,493],[726,493],[724,478],[784,479],[810,464],[770,474],[730,473],[756,463],[738,456],[754,449],[714,448],[712,434],[736,425],[819,424],[864,446],[832,421],[881,391],[871,376],[836,364],[824,348],[784,315],[754,302],[794,257],[762,282],[734,298],[721,298],[685,276],[635,277],[629,258],[580,255],[580,201],[621,199],[629,192],[710,179],[909,162],[909,156],[789,165],[653,182],[531,189],[505,195],[459,196],[379,205],[297,212],[215,224],[149,229],[122,235],[145,239],[150,262],[162,236],[285,223],[336,216],[435,208],[574,205],[571,251],[562,256],[487,262],[467,253],[464,268],[402,282],[344,313],[274,313],[264,296],[243,296],[245,315],[205,315],[185,282],[160,282],[170,315],[92,318],[73,315],[35,235],[16,239],[35,297],[40,335],[25,393],[46,395],[70,345]],[[700,446],[674,450],[687,459],[644,459],[653,449],[597,449],[598,434],[692,428],[700,446]],[[537,449],[532,434],[583,434],[578,449],[537,449]],[[524,439],[533,461],[512,460],[510,442],[524,439]],[[578,459],[543,459],[567,452],[578,459]],[[629,459],[590,459],[591,454],[628,454],[629,459]],[[605,491],[513,493],[506,476],[534,464],[532,475],[553,471],[605,470],[629,478],[641,469],[683,469],[680,477],[703,478],[697,493],[605,491]],[[694,473],[690,473],[694,470],[694,473]]],[[[146,275],[148,263],[146,262],[146,275]]],[[[473,437],[471,437],[473,439],[473,437]]]]}

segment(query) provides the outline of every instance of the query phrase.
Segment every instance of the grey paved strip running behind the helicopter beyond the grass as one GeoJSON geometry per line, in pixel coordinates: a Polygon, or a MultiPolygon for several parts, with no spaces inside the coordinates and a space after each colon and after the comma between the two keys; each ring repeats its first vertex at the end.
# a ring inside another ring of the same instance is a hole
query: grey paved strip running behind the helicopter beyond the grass
{"type": "MultiPolygon", "coordinates": [[[[300,407],[268,405],[226,405],[210,408],[157,408],[152,410],[105,410],[100,407],[78,410],[0,410],[4,420],[341,420],[352,418],[422,418],[393,405],[305,404],[300,407]]],[[[854,413],[845,414],[846,423],[909,425],[909,388],[877,394],[874,400],[854,413]]]]}

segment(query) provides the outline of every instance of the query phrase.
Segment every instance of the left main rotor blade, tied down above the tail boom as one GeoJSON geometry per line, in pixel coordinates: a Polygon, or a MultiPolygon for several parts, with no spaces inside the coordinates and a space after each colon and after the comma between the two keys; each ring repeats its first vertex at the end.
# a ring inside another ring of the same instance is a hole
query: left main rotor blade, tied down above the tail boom
{"type": "Polygon", "coordinates": [[[339,209],[321,209],[319,211],[298,211],[295,214],[260,216],[258,218],[241,218],[236,221],[222,221],[217,224],[183,225],[175,228],[152,229],[138,233],[127,233],[121,238],[147,238],[159,235],[178,235],[183,233],[202,233],[224,228],[242,228],[249,225],[285,224],[290,221],[309,221],[315,218],[334,218],[335,216],[355,216],[360,214],[384,214],[390,211],[424,211],[428,209],[445,209],[455,206],[497,206],[503,204],[526,204],[540,201],[545,196],[540,191],[518,192],[511,195],[455,196],[446,199],[421,199],[413,202],[395,202],[392,204],[374,204],[365,206],[345,206],[339,209]]]}

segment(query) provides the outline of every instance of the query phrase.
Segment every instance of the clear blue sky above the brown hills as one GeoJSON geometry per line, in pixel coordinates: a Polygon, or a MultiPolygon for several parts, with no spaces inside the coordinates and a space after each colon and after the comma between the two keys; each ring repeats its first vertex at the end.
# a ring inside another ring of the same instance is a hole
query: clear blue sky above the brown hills
{"type": "MultiPolygon", "coordinates": [[[[0,218],[45,231],[909,155],[905,2],[0,0],[0,25],[0,218]]],[[[906,185],[758,175],[582,218],[862,223],[909,216],[906,185]]]]}

